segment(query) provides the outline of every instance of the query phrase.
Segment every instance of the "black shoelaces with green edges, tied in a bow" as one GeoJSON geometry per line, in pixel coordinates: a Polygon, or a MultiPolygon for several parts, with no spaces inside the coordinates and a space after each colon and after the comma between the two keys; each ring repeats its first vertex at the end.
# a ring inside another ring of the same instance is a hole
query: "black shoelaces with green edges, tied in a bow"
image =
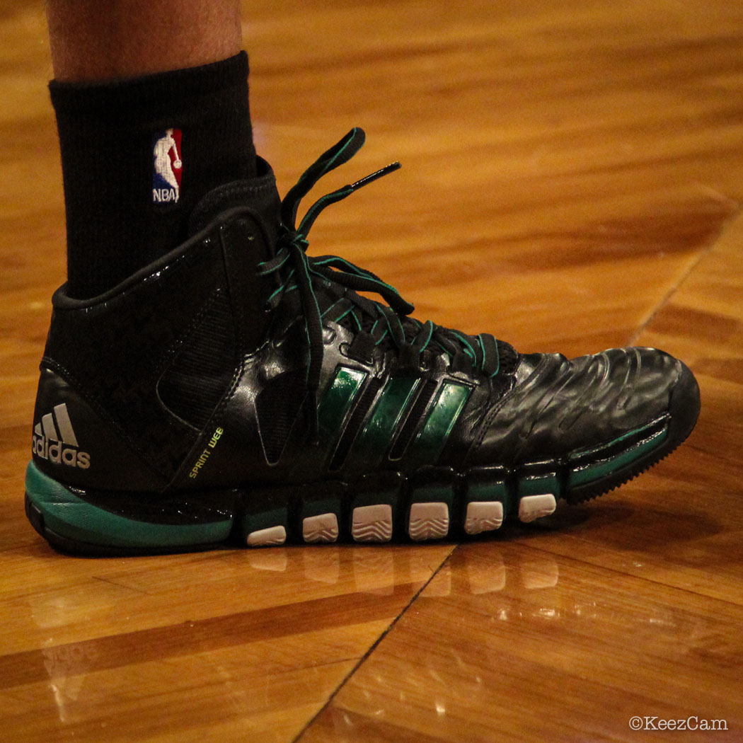
{"type": "Polygon", "coordinates": [[[467,336],[459,331],[442,328],[430,320],[421,322],[409,314],[415,310],[406,302],[395,287],[387,284],[371,271],[360,268],[338,256],[311,257],[307,255],[307,236],[318,215],[325,207],[346,198],[362,186],[376,181],[400,167],[392,163],[377,170],[366,178],[343,186],[319,198],[306,212],[299,227],[295,227],[299,203],[313,186],[331,170],[348,162],[363,146],[366,139],[362,129],[354,128],[340,142],[324,152],[302,174],[296,185],[290,189],[282,201],[282,236],[276,244],[276,253],[269,261],[258,266],[260,276],[268,276],[288,267],[282,277],[282,285],[270,297],[271,305],[281,302],[288,291],[299,291],[302,314],[309,343],[309,363],[307,370],[307,391],[311,406],[311,439],[317,444],[318,435],[318,389],[322,372],[322,319],[340,322],[349,316],[357,330],[366,332],[373,345],[380,345],[386,339],[399,349],[398,363],[409,369],[418,369],[421,354],[434,344],[444,351],[454,366],[460,366],[466,359],[491,377],[499,371],[498,344],[492,335],[481,333],[467,336]],[[325,288],[335,293],[338,299],[325,311],[320,311],[316,288],[325,288]],[[389,306],[367,299],[358,291],[379,294],[389,306]]]}

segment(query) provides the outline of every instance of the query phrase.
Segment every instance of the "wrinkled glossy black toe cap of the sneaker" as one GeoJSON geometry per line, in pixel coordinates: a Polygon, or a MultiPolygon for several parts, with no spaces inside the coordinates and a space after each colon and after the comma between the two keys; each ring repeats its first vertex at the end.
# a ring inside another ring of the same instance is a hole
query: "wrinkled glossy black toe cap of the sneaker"
{"type": "Polygon", "coordinates": [[[611,441],[669,414],[682,378],[689,399],[677,395],[675,406],[698,411],[690,371],[655,348],[611,348],[573,360],[523,356],[513,389],[484,419],[473,460],[520,464],[611,441]]]}

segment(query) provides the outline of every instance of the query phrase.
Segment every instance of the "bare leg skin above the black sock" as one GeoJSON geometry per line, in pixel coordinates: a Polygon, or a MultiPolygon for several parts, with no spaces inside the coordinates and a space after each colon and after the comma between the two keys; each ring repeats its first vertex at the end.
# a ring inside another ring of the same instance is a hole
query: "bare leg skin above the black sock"
{"type": "Polygon", "coordinates": [[[238,0],[48,0],[54,77],[114,80],[241,50],[238,0]]]}

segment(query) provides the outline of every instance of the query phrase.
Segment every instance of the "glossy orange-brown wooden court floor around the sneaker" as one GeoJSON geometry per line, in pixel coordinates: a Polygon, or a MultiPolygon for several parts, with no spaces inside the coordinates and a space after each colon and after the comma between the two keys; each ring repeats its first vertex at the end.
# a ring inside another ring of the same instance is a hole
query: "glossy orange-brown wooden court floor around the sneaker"
{"type": "Polygon", "coordinates": [[[0,739],[742,741],[743,5],[259,0],[245,33],[282,192],[356,124],[328,189],[403,162],[322,215],[316,253],[524,351],[666,348],[698,427],[466,545],[54,553],[22,498],[59,152],[42,3],[1,0],[0,739]]]}

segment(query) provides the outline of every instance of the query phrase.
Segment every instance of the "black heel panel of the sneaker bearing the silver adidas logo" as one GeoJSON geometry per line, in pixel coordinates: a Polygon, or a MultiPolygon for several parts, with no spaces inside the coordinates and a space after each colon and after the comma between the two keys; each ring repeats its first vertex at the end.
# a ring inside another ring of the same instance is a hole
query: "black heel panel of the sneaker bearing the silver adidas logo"
{"type": "Polygon", "coordinates": [[[112,424],[45,367],[36,393],[31,452],[39,470],[75,487],[161,490],[166,485],[112,424]]]}

